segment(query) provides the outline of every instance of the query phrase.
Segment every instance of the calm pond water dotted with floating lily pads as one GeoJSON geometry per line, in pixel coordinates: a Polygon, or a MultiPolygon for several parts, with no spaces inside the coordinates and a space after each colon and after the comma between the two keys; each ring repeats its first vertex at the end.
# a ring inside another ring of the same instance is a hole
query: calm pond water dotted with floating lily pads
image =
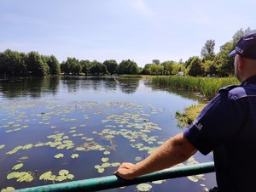
{"type": "MultiPolygon", "coordinates": [[[[146,79],[0,79],[0,190],[112,175],[119,163],[136,163],[182,132],[176,111],[198,102],[146,79]]],[[[205,161],[212,155],[196,153],[181,165],[205,161]]],[[[215,174],[148,184],[147,191],[207,191],[215,174]]]]}

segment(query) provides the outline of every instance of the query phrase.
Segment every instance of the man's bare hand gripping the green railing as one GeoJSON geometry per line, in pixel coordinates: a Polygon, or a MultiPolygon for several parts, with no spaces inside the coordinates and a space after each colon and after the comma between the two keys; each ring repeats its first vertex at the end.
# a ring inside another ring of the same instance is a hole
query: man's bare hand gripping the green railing
{"type": "Polygon", "coordinates": [[[136,178],[135,167],[136,165],[132,163],[124,162],[119,166],[117,171],[113,172],[113,174],[124,179],[136,178]]]}

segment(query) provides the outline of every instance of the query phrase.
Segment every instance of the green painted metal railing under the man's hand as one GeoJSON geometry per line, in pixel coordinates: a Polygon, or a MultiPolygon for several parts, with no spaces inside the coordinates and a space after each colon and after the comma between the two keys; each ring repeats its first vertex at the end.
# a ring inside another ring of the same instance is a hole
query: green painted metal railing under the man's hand
{"type": "Polygon", "coordinates": [[[80,181],[67,182],[62,184],[49,184],[34,188],[19,189],[19,192],[31,191],[99,191],[104,189],[113,189],[133,184],[142,184],[168,178],[181,178],[189,175],[196,175],[208,172],[215,172],[214,163],[207,162],[193,166],[174,167],[161,172],[153,172],[132,180],[124,180],[116,176],[107,176],[102,178],[89,178],[80,181]]]}

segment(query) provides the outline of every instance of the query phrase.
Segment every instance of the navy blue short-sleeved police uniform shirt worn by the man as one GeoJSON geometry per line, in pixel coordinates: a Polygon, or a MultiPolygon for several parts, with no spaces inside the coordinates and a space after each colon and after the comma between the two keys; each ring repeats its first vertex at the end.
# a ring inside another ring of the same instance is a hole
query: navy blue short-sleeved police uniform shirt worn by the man
{"type": "Polygon", "coordinates": [[[219,189],[255,192],[256,76],[221,88],[183,134],[202,154],[213,150],[219,189]]]}

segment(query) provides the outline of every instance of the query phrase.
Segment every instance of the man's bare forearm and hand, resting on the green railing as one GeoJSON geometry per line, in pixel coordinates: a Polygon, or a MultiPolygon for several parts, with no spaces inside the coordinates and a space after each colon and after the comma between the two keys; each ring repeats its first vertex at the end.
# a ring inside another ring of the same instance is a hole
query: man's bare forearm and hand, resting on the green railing
{"type": "Polygon", "coordinates": [[[123,163],[114,174],[121,178],[136,178],[177,165],[187,160],[195,152],[195,147],[181,133],[166,141],[152,155],[149,155],[148,158],[138,162],[136,165],[123,163]]]}

